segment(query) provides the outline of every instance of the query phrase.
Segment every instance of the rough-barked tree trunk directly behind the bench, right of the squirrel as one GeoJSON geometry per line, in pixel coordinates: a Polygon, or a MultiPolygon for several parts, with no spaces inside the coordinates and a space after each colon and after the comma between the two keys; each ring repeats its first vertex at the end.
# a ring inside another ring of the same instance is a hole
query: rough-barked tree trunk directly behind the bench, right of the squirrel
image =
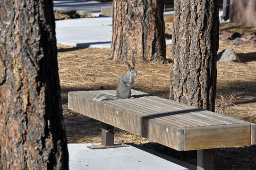
{"type": "Polygon", "coordinates": [[[175,0],[170,99],[214,111],[219,0],[175,0]]]}

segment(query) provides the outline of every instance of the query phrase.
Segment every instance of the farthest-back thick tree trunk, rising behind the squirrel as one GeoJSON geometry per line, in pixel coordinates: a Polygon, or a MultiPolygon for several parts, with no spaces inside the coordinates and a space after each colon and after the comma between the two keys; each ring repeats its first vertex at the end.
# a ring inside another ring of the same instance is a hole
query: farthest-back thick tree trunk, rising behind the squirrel
{"type": "Polygon", "coordinates": [[[166,61],[164,0],[113,0],[110,59],[166,61]]]}

